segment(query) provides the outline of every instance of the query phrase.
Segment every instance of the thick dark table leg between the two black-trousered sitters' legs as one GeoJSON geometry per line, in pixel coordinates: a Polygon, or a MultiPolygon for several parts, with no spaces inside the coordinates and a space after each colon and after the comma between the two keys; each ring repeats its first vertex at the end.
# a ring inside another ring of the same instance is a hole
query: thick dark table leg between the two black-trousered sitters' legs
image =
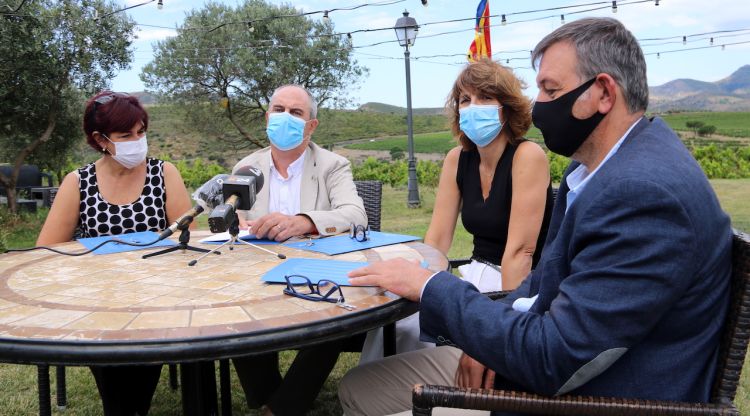
{"type": "Polygon", "coordinates": [[[180,367],[183,415],[218,416],[214,362],[186,363],[180,367]]]}

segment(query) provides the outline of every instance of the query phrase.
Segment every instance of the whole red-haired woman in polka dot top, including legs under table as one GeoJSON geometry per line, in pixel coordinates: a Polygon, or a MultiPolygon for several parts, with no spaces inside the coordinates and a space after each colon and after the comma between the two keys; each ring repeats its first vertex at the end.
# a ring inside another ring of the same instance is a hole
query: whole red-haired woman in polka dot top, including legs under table
{"type": "MultiPolygon", "coordinates": [[[[36,244],[167,228],[190,209],[180,172],[147,158],[148,113],[138,99],[103,91],[86,102],[86,142],[101,157],[63,179],[36,244]]],[[[161,366],[91,367],[104,414],[145,415],[161,366]]]]}

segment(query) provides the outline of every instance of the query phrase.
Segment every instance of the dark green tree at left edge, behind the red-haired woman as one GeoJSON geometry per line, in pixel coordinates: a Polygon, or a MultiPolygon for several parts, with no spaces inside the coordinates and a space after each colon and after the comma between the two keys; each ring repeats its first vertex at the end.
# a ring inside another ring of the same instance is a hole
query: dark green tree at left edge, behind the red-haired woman
{"type": "Polygon", "coordinates": [[[0,1],[0,174],[16,212],[21,165],[54,168],[80,140],[82,97],[106,85],[131,59],[133,23],[104,0],[0,1]],[[7,11],[7,12],[6,12],[7,11]]]}

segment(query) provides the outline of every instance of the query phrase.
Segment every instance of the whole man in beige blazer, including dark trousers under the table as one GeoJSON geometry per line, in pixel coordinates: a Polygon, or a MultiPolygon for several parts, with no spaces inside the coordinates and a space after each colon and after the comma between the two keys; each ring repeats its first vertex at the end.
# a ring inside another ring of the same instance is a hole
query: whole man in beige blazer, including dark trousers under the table
{"type": "MultiPolygon", "coordinates": [[[[367,225],[349,161],[310,141],[318,126],[316,115],[315,100],[305,88],[276,89],[266,113],[271,146],[242,159],[233,169],[256,167],[266,183],[252,209],[239,213],[240,227],[250,227],[258,237],[283,241],[306,234],[337,234],[351,224],[367,225]]],[[[283,379],[278,353],[234,359],[248,404],[263,406],[263,415],[306,413],[336,364],[342,343],[300,350],[283,379]]]]}

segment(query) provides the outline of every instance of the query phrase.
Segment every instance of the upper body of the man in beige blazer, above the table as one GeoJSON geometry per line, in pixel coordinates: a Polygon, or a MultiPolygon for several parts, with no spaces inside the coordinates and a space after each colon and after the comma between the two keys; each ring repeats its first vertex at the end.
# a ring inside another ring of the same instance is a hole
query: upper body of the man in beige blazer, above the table
{"type": "Polygon", "coordinates": [[[233,169],[259,168],[265,179],[240,227],[276,241],[305,234],[331,235],[351,224],[367,225],[349,161],[313,143],[317,105],[303,87],[285,85],[271,97],[266,113],[271,146],[240,160],[233,169]]]}

